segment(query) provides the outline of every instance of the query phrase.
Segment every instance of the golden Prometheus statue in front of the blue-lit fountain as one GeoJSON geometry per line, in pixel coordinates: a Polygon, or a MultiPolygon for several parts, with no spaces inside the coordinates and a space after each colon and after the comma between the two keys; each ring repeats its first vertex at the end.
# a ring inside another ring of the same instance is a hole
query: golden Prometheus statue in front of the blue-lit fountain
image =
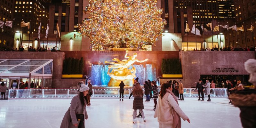
{"type": "Polygon", "coordinates": [[[136,59],[137,53],[133,53],[133,56],[127,56],[127,54],[128,51],[126,50],[124,58],[128,58],[128,60],[124,59],[120,61],[119,59],[114,58],[112,60],[116,62],[105,61],[107,64],[112,64],[108,66],[108,75],[111,77],[108,86],[119,86],[121,81],[123,81],[125,85],[132,86],[134,78],[136,77],[136,68],[132,66],[132,64],[135,62],[143,63],[148,61],[148,59],[136,59]]]}

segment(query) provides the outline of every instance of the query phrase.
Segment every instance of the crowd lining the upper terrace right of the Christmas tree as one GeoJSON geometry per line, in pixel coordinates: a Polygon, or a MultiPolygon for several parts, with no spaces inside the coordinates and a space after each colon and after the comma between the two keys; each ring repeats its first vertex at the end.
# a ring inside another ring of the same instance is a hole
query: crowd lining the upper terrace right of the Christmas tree
{"type": "Polygon", "coordinates": [[[215,45],[214,46],[214,48],[212,47],[212,49],[211,48],[200,48],[200,50],[198,50],[197,48],[195,49],[194,48],[194,50],[193,51],[256,51],[256,47],[254,48],[254,47],[236,47],[236,46],[231,46],[231,47],[223,47],[223,49],[222,48],[217,48],[217,46],[215,45]]]}

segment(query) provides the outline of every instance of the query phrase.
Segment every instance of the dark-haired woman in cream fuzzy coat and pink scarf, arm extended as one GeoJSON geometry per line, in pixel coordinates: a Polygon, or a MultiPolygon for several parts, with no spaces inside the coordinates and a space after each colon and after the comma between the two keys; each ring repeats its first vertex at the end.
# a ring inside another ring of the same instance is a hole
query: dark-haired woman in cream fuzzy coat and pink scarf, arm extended
{"type": "Polygon", "coordinates": [[[180,117],[190,123],[188,116],[180,109],[176,96],[169,83],[161,85],[154,118],[157,117],[159,128],[181,128],[180,117]]]}

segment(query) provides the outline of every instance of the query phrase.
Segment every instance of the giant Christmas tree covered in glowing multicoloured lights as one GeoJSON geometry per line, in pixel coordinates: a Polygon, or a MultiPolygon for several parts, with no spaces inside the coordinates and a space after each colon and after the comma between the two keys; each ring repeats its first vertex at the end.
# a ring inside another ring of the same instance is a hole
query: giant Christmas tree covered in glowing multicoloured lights
{"type": "Polygon", "coordinates": [[[143,49],[162,36],[165,20],[157,0],[88,0],[79,24],[81,35],[91,40],[95,51],[108,48],[143,49]]]}

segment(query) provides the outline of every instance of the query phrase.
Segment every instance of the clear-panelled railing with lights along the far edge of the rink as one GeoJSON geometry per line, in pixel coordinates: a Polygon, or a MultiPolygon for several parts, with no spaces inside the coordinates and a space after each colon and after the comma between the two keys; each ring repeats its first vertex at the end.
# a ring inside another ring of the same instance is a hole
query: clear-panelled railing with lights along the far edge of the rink
{"type": "MultiPolygon", "coordinates": [[[[68,99],[77,94],[78,89],[9,89],[8,99],[68,99]]],[[[145,89],[143,89],[145,91],[145,89]]],[[[158,92],[160,89],[158,89],[158,92]]],[[[124,97],[129,97],[132,89],[124,89],[124,97]]],[[[184,97],[197,97],[195,88],[185,88],[184,97]]],[[[214,88],[211,97],[227,97],[226,88],[214,88]]],[[[119,98],[119,89],[92,89],[92,98],[119,98]]],[[[145,95],[144,95],[145,97],[145,95]]]]}

